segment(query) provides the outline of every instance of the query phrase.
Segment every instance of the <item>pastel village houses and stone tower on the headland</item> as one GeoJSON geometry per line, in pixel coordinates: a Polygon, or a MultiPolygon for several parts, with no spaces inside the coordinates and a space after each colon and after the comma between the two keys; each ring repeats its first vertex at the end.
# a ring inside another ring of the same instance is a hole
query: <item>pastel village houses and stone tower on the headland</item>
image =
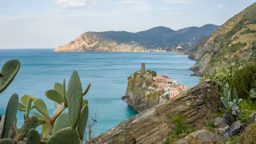
{"type": "MultiPolygon", "coordinates": [[[[178,96],[181,92],[189,89],[186,85],[177,83],[176,80],[171,80],[167,75],[150,75],[149,71],[145,70],[145,63],[141,63],[141,73],[143,73],[144,77],[152,78],[153,84],[148,87],[148,91],[146,91],[146,95],[152,91],[159,91],[162,95],[159,97],[159,104],[172,99],[178,96]]],[[[143,83],[145,85],[145,83],[143,83]]]]}

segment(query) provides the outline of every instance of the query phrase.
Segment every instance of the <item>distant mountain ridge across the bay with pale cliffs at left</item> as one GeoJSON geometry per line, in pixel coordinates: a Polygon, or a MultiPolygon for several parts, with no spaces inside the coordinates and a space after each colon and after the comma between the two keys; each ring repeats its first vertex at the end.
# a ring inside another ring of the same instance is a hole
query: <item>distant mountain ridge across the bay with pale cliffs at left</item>
{"type": "Polygon", "coordinates": [[[150,51],[156,48],[167,51],[177,48],[184,50],[211,34],[218,27],[214,24],[206,24],[203,27],[188,27],[177,31],[167,27],[154,27],[136,33],[85,32],[54,51],[150,51]]]}

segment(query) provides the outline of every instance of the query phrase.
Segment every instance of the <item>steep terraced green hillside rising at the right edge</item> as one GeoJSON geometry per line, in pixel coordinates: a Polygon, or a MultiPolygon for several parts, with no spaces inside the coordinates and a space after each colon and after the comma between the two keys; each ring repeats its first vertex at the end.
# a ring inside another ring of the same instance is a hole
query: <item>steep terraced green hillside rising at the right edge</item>
{"type": "Polygon", "coordinates": [[[256,3],[230,18],[185,53],[198,60],[190,70],[199,76],[213,72],[216,66],[256,60],[256,3]]]}

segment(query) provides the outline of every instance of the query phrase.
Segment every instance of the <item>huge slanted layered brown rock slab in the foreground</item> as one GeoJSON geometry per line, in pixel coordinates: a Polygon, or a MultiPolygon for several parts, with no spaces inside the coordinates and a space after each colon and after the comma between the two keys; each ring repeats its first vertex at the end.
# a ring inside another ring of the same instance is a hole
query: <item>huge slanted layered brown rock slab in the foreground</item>
{"type": "Polygon", "coordinates": [[[102,133],[96,137],[96,143],[162,144],[173,131],[173,124],[165,123],[166,114],[184,114],[185,123],[194,124],[205,118],[209,112],[217,111],[220,107],[221,102],[215,83],[205,81],[164,104],[147,109],[102,133]]]}

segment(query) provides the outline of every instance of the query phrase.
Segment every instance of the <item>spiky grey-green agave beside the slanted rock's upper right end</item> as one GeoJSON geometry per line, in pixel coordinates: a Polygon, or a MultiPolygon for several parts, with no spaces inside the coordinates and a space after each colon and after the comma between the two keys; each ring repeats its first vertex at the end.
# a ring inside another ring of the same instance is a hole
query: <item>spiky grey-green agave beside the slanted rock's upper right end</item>
{"type": "Polygon", "coordinates": [[[236,93],[232,93],[232,88],[229,87],[229,84],[223,86],[222,93],[221,93],[221,103],[222,105],[227,108],[231,107],[235,104],[240,104],[243,99],[240,99],[236,93]]]}

